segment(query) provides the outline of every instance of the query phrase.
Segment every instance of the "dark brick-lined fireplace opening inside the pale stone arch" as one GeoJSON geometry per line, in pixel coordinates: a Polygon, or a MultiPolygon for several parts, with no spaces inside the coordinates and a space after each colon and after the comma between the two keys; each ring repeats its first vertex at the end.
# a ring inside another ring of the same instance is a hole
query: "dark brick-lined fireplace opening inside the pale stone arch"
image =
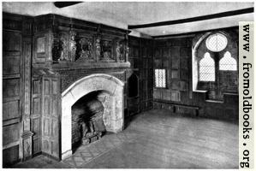
{"type": "Polygon", "coordinates": [[[104,101],[106,91],[92,91],[72,106],[72,150],[80,144],[90,144],[105,133],[104,101]]]}

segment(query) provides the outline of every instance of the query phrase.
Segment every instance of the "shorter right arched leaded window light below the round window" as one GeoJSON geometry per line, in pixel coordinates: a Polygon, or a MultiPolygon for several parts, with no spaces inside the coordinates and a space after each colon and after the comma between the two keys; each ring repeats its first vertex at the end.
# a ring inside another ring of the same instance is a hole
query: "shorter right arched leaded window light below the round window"
{"type": "Polygon", "coordinates": [[[236,71],[236,61],[233,57],[231,57],[231,54],[229,51],[227,51],[223,58],[219,61],[219,70],[223,71],[236,71]]]}

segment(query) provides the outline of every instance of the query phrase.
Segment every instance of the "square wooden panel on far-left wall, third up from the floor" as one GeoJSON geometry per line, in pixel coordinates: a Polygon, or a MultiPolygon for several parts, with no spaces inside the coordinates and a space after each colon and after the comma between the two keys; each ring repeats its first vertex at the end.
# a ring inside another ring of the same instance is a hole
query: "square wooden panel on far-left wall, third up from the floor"
{"type": "Polygon", "coordinates": [[[21,117],[20,101],[3,102],[3,121],[21,117]]]}

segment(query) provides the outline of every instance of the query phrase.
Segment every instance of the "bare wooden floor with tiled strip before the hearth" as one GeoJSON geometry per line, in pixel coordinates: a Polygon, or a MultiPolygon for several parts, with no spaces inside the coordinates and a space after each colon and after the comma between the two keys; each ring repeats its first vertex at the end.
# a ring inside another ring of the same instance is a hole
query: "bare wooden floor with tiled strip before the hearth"
{"type": "Polygon", "coordinates": [[[64,161],[37,156],[13,168],[238,168],[238,125],[155,109],[64,161]]]}

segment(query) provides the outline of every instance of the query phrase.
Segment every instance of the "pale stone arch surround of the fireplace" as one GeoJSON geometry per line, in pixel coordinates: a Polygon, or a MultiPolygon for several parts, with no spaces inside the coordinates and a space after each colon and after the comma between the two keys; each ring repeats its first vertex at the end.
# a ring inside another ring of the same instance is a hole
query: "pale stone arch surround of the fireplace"
{"type": "MultiPolygon", "coordinates": [[[[62,93],[61,153],[62,159],[72,155],[72,106],[80,97],[92,91],[107,91],[109,94],[106,130],[118,133],[123,129],[123,85],[121,80],[109,74],[91,74],[75,81],[62,93]]],[[[105,108],[106,109],[106,108],[105,108]]]]}

